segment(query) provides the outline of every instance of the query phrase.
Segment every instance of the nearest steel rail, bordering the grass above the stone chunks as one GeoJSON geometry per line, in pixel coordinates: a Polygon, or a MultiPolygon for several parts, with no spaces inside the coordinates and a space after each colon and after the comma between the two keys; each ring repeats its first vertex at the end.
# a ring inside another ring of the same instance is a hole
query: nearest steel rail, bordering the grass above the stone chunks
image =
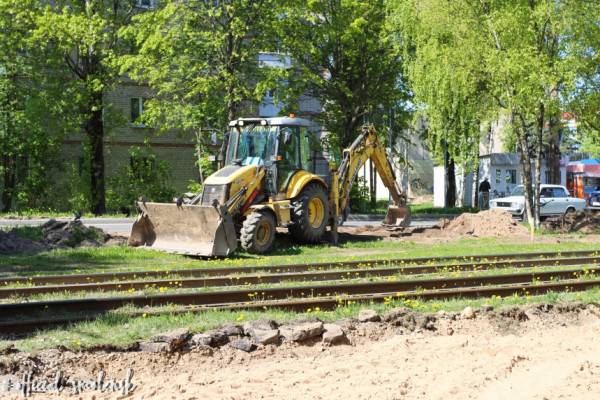
{"type": "MultiPolygon", "coordinates": [[[[284,300],[265,300],[253,302],[234,302],[234,303],[217,303],[211,305],[180,307],[175,310],[168,311],[135,311],[125,313],[126,318],[138,317],[141,315],[162,315],[182,314],[182,313],[198,313],[208,310],[253,310],[253,309],[282,309],[291,311],[307,311],[318,307],[321,310],[335,309],[340,305],[349,302],[382,302],[389,298],[400,299],[422,299],[422,300],[448,300],[453,298],[480,298],[490,296],[512,296],[515,294],[540,295],[554,291],[584,291],[593,287],[600,286],[600,279],[595,280],[567,280],[560,282],[538,282],[526,284],[508,284],[500,286],[485,286],[485,287],[461,287],[453,289],[432,289],[423,291],[406,291],[406,292],[390,292],[390,293],[375,293],[375,294],[359,294],[347,295],[343,298],[337,296],[322,296],[322,297],[306,297],[284,300]]],[[[76,322],[87,321],[95,318],[97,315],[83,315],[64,318],[50,319],[20,319],[0,322],[0,333],[3,334],[19,334],[31,333],[39,329],[68,325],[76,322]]]]}

